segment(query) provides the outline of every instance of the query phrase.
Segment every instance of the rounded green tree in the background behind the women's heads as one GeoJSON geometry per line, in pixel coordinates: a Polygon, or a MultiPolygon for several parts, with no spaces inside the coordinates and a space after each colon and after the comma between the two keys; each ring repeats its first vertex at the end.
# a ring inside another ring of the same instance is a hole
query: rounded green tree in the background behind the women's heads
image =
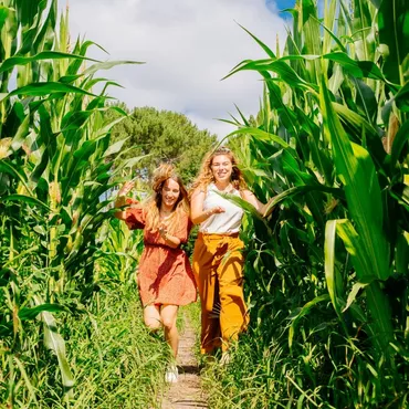
{"type": "MultiPolygon", "coordinates": [[[[123,104],[119,106],[128,111],[123,104]]],[[[196,177],[204,154],[217,141],[214,135],[199,130],[183,114],[151,107],[133,109],[115,125],[112,135],[114,140],[127,138],[124,157],[146,156],[135,166],[144,180],[160,161],[168,161],[176,166],[186,183],[196,177]]]]}

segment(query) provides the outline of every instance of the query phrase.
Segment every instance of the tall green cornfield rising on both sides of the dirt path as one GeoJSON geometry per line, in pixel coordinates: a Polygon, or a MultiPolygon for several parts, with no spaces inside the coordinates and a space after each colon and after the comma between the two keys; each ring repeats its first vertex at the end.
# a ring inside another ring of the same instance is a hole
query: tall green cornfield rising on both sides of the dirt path
{"type": "MultiPolygon", "coordinates": [[[[57,10],[0,4],[0,405],[149,407],[165,358],[133,321],[141,238],[102,199],[139,158],[111,141],[126,113],[97,73],[135,62],[90,59],[96,44],[72,42],[57,10]]],[[[265,57],[227,75],[264,82],[229,143],[259,199],[275,198],[266,218],[234,199],[251,328],[203,375],[213,408],[408,407],[409,7],[324,11],[297,0],[283,48],[248,31],[265,57]]]]}

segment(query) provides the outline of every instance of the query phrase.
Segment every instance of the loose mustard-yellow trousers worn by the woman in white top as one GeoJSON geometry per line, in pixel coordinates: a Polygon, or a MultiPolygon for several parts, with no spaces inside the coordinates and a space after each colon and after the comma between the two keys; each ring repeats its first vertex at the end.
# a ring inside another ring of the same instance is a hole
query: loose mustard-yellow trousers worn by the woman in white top
{"type": "Polygon", "coordinates": [[[201,348],[229,348],[249,324],[243,297],[243,242],[235,235],[199,233],[193,272],[201,301],[201,348]]]}

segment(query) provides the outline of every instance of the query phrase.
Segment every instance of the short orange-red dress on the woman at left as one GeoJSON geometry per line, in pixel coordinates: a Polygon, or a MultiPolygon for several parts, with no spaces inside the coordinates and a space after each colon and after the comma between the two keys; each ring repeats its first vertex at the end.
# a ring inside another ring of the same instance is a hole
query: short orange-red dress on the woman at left
{"type": "MultiPolygon", "coordinates": [[[[129,201],[128,201],[129,203],[129,201]]],[[[145,229],[146,212],[128,208],[125,222],[129,229],[145,229]]],[[[186,243],[190,233],[189,217],[171,235],[186,243]]],[[[159,232],[144,230],[144,251],[139,261],[138,287],[144,306],[151,304],[187,305],[196,301],[196,281],[189,259],[180,248],[165,243],[159,232]]]]}

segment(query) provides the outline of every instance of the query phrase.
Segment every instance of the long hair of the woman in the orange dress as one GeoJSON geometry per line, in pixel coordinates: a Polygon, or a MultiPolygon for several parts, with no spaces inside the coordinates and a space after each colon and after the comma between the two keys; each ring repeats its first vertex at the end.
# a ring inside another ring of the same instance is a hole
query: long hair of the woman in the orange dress
{"type": "Polygon", "coordinates": [[[169,164],[160,165],[155,171],[151,181],[153,195],[143,203],[146,211],[146,228],[151,231],[157,231],[160,224],[160,204],[161,190],[168,179],[175,180],[179,185],[179,197],[176,201],[171,216],[168,219],[167,229],[169,233],[175,233],[180,226],[182,218],[189,214],[189,198],[180,177],[175,172],[175,168],[169,164]]]}

